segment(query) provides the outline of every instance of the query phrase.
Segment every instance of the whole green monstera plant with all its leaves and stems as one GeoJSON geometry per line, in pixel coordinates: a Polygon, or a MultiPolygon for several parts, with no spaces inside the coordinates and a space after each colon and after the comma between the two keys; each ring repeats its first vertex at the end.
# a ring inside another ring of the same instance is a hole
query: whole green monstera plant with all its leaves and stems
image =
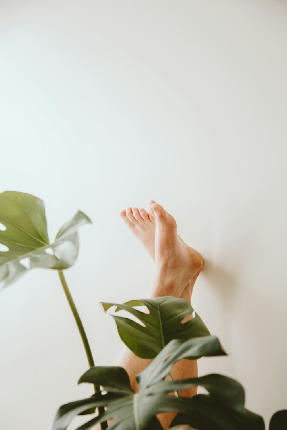
{"type": "MultiPolygon", "coordinates": [[[[122,341],[141,358],[153,359],[139,375],[134,393],[127,372],[121,367],[95,366],[88,339],[68,289],[63,270],[71,267],[79,252],[78,228],[91,220],[78,211],[50,243],[45,206],[30,194],[6,191],[0,194],[0,289],[28,270],[42,267],[57,270],[74,315],[89,363],[79,383],[92,384],[94,394],[59,408],[52,430],[65,430],[77,415],[86,415],[78,430],[100,424],[111,430],[160,430],[156,415],[177,412],[170,429],[264,430],[262,417],[244,407],[244,389],[224,375],[205,375],[173,381],[170,370],[181,359],[224,356],[191,304],[170,296],[133,300],[124,304],[102,303],[111,313],[122,341]],[[185,322],[186,317],[193,315],[185,322]],[[179,397],[178,391],[202,386],[207,394],[179,397]],[[173,396],[170,393],[174,393],[173,396]],[[92,416],[91,416],[92,414],[92,416]]],[[[287,428],[287,411],[276,412],[269,430],[287,428]]]]}

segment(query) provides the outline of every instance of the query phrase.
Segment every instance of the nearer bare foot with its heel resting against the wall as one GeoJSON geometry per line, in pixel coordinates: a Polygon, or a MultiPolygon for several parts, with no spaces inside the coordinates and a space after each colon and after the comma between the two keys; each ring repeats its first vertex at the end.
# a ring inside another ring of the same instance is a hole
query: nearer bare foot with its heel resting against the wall
{"type": "Polygon", "coordinates": [[[157,291],[154,294],[180,297],[185,286],[202,269],[202,255],[179,238],[175,219],[162,206],[153,202],[150,209],[155,219],[155,274],[152,285],[157,286],[157,291]]]}

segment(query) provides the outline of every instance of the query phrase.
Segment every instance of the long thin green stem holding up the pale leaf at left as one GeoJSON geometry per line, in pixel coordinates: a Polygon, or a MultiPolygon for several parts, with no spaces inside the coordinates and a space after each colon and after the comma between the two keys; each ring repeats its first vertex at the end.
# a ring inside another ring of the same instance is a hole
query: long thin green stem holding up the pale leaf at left
{"type": "MultiPolygon", "coordinates": [[[[86,332],[85,332],[83,323],[82,323],[82,321],[80,319],[80,315],[79,315],[79,313],[77,311],[75,302],[74,302],[74,300],[72,298],[72,295],[70,293],[70,290],[69,290],[68,284],[66,282],[64,273],[62,272],[62,270],[58,270],[58,273],[59,273],[59,278],[60,278],[62,287],[64,289],[66,298],[67,298],[68,303],[69,303],[69,305],[71,307],[71,311],[72,311],[72,313],[74,315],[74,319],[76,321],[77,327],[78,327],[79,332],[80,332],[80,336],[81,336],[81,339],[82,339],[82,342],[83,342],[83,346],[84,346],[85,352],[86,352],[86,357],[88,359],[89,367],[93,367],[95,365],[95,362],[94,362],[94,359],[93,359],[91,348],[89,346],[89,341],[88,341],[88,338],[86,336],[86,332]]],[[[99,393],[101,391],[101,388],[98,387],[97,385],[94,385],[94,389],[95,389],[95,393],[99,393]]],[[[100,413],[102,413],[102,412],[105,411],[105,408],[98,408],[98,410],[99,410],[99,414],[100,414],[100,413]]],[[[103,422],[100,425],[101,425],[101,430],[105,430],[106,428],[108,428],[108,423],[107,422],[103,422]]]]}

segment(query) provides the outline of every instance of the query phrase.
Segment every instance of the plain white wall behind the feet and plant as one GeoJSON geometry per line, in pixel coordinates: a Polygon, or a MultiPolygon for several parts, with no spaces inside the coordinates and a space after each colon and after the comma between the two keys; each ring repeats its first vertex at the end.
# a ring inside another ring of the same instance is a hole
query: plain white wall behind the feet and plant
{"type": "MultiPolygon", "coordinates": [[[[45,200],[51,239],[93,219],[67,279],[96,363],[120,350],[99,301],[145,297],[153,271],[118,212],[158,200],[204,255],[194,307],[230,354],[200,372],[266,420],[287,407],[286,52],[281,0],[0,3],[0,191],[45,200]]],[[[5,430],[91,393],[56,273],[1,293],[0,348],[5,430]]]]}

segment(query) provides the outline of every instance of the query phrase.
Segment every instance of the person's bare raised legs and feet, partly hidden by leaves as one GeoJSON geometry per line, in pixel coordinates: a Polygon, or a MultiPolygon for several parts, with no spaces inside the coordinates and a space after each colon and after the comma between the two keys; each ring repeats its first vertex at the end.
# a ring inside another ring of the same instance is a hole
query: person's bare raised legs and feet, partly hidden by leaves
{"type": "MultiPolygon", "coordinates": [[[[178,236],[176,221],[162,206],[151,200],[148,212],[145,209],[127,208],[120,212],[123,222],[142,243],[154,260],[154,275],[151,280],[149,297],[172,295],[191,301],[194,283],[203,267],[201,254],[178,236]]],[[[191,319],[188,316],[183,322],[191,319]]],[[[136,375],[142,372],[151,360],[136,357],[127,347],[123,347],[116,365],[126,369],[131,386],[138,391],[136,375]]],[[[172,370],[173,379],[195,378],[198,376],[197,361],[181,360],[172,370]]],[[[179,396],[192,397],[197,388],[179,391],[179,396]]],[[[175,413],[158,414],[157,418],[164,429],[170,426],[175,413]]],[[[99,430],[96,426],[93,430],[99,430]]]]}

